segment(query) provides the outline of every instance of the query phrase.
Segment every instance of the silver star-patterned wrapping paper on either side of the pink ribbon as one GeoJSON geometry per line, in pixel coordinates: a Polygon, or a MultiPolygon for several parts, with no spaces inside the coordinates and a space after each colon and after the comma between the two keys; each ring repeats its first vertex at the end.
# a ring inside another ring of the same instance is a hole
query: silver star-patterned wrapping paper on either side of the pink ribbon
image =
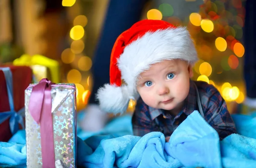
{"type": "MultiPolygon", "coordinates": [[[[52,86],[51,90],[55,165],[61,163],[63,168],[75,168],[76,89],[74,84],[61,85],[66,86],[52,86]]],[[[34,121],[28,108],[31,92],[32,87],[25,90],[26,164],[27,168],[42,168],[40,125],[34,121]]]]}

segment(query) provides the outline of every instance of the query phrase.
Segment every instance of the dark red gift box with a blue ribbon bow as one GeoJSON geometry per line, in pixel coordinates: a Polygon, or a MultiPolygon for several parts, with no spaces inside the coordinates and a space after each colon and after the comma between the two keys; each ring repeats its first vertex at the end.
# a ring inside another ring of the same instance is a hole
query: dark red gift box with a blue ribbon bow
{"type": "Polygon", "coordinates": [[[24,127],[24,90],[31,81],[29,67],[0,67],[0,142],[24,127]]]}

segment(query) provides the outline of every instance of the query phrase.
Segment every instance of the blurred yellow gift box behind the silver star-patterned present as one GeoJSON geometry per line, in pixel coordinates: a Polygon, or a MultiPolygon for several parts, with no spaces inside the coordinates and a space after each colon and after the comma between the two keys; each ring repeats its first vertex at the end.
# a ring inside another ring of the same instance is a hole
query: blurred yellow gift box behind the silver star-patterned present
{"type": "Polygon", "coordinates": [[[47,58],[43,55],[33,55],[23,54],[20,58],[13,61],[14,65],[17,66],[30,66],[37,78],[50,78],[54,83],[60,83],[59,74],[59,63],[58,61],[47,58]],[[47,69],[49,69],[50,76],[47,75],[47,69]]]}

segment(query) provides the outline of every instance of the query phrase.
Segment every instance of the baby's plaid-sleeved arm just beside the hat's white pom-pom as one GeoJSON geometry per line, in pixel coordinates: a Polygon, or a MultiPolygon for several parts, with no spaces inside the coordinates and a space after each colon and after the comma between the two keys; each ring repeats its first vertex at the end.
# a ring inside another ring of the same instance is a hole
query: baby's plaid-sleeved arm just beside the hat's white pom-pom
{"type": "Polygon", "coordinates": [[[141,99],[136,104],[132,117],[132,127],[135,136],[144,136],[150,132],[160,131],[158,127],[152,124],[148,106],[141,99]]]}

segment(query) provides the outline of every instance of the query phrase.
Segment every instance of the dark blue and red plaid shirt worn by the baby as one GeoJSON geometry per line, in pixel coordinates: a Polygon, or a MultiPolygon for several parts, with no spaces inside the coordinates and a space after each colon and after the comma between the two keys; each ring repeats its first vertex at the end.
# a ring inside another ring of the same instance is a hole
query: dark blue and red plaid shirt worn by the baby
{"type": "Polygon", "coordinates": [[[189,116],[194,110],[198,110],[195,85],[201,98],[204,119],[208,121],[216,111],[218,115],[209,122],[219,134],[220,139],[236,133],[236,127],[227,105],[218,90],[206,82],[190,81],[189,95],[184,100],[184,105],[177,116],[172,116],[166,110],[154,109],[146,105],[141,98],[138,99],[132,117],[134,135],[143,136],[149,132],[160,131],[165,136],[171,136],[173,131],[189,116]]]}

